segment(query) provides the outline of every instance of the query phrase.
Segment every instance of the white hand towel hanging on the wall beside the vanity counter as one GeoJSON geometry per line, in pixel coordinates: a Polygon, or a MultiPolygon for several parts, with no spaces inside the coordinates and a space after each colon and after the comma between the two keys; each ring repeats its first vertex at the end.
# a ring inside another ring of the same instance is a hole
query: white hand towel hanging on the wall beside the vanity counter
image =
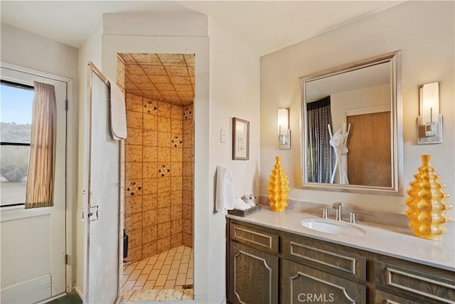
{"type": "Polygon", "coordinates": [[[230,169],[216,166],[215,210],[226,213],[234,209],[234,178],[230,169]]]}

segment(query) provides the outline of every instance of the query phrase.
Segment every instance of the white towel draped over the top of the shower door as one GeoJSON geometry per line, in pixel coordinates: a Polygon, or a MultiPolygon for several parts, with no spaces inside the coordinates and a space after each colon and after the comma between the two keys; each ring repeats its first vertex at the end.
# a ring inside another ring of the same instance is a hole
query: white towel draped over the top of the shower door
{"type": "Polygon", "coordinates": [[[125,97],[117,84],[109,80],[111,87],[111,132],[114,140],[127,138],[127,110],[125,97]]]}

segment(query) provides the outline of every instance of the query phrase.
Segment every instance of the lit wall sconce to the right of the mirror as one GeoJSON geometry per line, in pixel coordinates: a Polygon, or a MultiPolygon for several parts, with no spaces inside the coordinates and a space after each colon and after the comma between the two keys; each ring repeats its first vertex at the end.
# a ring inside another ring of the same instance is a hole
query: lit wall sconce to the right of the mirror
{"type": "Polygon", "coordinates": [[[439,114],[439,83],[427,83],[419,88],[419,144],[442,142],[442,115],[439,114]]]}

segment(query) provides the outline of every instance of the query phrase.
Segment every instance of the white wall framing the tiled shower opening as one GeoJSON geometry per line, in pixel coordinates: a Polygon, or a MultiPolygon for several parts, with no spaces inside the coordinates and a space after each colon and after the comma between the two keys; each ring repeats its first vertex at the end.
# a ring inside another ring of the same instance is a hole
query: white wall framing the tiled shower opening
{"type": "MultiPolygon", "coordinates": [[[[105,14],[102,35],[102,73],[117,76],[117,53],[193,53],[196,58],[195,178],[194,178],[194,295],[196,303],[208,301],[208,93],[209,61],[206,16],[195,15],[175,19],[163,16],[105,14]],[[200,28],[191,25],[191,20],[200,28]],[[202,21],[203,22],[202,22],[202,21]],[[117,35],[117,24],[127,23],[129,31],[117,35]],[[188,25],[188,26],[186,26],[188,25]],[[144,30],[146,28],[146,30],[144,30]],[[160,28],[168,36],[156,35],[160,28]],[[169,31],[170,29],[174,31],[169,31]],[[194,31],[182,31],[193,28],[194,31]],[[149,36],[154,33],[155,36],[149,36]],[[203,35],[205,33],[205,35],[203,35]]],[[[124,216],[120,216],[121,219],[124,216]]]]}

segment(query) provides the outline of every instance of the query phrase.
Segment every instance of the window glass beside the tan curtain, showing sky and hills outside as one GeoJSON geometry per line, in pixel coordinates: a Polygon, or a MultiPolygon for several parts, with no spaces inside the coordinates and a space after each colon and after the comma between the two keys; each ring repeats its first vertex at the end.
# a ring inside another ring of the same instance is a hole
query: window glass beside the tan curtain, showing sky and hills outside
{"type": "Polygon", "coordinates": [[[33,86],[1,80],[0,203],[25,203],[30,154],[33,86]]]}

